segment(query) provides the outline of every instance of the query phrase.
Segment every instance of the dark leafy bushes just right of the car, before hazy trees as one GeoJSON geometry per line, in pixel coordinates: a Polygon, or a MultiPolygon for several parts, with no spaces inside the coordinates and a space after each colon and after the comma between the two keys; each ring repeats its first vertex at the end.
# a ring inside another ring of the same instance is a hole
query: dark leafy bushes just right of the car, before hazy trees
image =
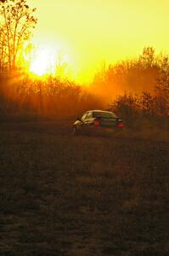
{"type": "Polygon", "coordinates": [[[110,111],[117,113],[128,128],[162,128],[169,130],[168,99],[163,94],[124,94],[110,102],[110,111]]]}

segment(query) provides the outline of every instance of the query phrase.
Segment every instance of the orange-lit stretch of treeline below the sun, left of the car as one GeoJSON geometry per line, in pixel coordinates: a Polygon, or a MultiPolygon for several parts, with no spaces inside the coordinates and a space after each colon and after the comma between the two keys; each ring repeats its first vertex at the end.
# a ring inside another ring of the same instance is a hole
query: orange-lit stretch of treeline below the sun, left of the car
{"type": "Polygon", "coordinates": [[[90,108],[102,108],[99,99],[75,82],[54,77],[33,80],[16,72],[1,74],[1,117],[65,118],[78,116],[90,108]]]}

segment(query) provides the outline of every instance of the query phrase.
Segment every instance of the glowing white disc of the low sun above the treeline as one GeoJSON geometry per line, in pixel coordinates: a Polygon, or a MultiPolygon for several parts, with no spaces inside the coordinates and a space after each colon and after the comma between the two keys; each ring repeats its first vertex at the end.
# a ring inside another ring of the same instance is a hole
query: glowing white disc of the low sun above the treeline
{"type": "Polygon", "coordinates": [[[57,49],[51,46],[39,46],[32,54],[30,72],[37,76],[54,73],[57,66],[57,49]]]}

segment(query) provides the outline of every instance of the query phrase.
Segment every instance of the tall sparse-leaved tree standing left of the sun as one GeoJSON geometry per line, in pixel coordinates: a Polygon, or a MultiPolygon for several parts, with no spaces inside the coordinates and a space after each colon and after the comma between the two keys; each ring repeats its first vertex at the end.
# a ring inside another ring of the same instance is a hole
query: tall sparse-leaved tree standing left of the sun
{"type": "Polygon", "coordinates": [[[37,24],[36,9],[31,9],[26,0],[0,1],[1,54],[7,55],[8,69],[15,67],[23,43],[30,38],[31,29],[37,24]]]}

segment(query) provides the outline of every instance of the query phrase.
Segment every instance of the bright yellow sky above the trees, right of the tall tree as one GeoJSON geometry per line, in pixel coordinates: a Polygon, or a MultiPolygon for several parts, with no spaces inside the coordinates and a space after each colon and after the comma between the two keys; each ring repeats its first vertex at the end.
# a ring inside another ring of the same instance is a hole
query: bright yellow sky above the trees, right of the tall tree
{"type": "Polygon", "coordinates": [[[37,7],[33,41],[61,50],[74,78],[92,79],[101,63],[169,52],[168,0],[30,0],[37,7]]]}

